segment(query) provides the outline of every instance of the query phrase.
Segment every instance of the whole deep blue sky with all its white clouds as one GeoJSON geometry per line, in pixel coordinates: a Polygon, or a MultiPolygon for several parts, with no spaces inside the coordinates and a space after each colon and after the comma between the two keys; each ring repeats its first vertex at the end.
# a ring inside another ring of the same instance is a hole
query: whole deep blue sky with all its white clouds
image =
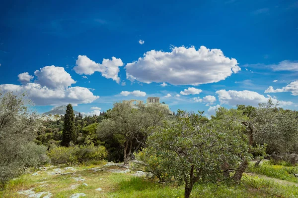
{"type": "Polygon", "coordinates": [[[297,109],[298,0],[2,2],[0,89],[38,112],[154,96],[209,115],[270,97],[297,109]]]}

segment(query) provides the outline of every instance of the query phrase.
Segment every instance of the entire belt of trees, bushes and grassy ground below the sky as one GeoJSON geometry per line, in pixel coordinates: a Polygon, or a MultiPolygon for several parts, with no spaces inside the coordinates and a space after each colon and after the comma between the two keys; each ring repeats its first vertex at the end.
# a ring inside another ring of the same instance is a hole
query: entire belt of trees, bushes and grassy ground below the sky
{"type": "Polygon", "coordinates": [[[30,109],[0,92],[0,197],[298,197],[298,112],[270,99],[211,118],[159,103],[68,104],[56,121],[30,109]]]}

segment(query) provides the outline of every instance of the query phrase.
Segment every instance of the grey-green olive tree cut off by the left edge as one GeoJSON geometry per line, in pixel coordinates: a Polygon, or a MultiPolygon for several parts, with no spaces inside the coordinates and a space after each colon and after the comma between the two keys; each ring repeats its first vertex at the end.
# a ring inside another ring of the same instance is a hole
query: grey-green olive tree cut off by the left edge
{"type": "Polygon", "coordinates": [[[25,94],[0,91],[0,186],[26,167],[46,161],[46,147],[33,143],[39,126],[25,94]]]}

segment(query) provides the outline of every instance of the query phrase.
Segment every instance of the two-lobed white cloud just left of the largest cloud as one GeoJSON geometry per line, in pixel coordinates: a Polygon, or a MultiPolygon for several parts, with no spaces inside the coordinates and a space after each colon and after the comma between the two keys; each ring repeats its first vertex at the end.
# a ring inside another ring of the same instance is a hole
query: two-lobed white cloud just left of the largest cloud
{"type": "Polygon", "coordinates": [[[123,62],[120,58],[112,57],[112,59],[103,59],[102,63],[96,63],[92,61],[85,55],[78,55],[75,62],[76,66],[74,71],[77,74],[86,74],[91,75],[94,72],[98,71],[101,73],[101,76],[105,78],[111,78],[117,83],[120,82],[118,73],[120,71],[119,67],[123,66],[123,62]]]}

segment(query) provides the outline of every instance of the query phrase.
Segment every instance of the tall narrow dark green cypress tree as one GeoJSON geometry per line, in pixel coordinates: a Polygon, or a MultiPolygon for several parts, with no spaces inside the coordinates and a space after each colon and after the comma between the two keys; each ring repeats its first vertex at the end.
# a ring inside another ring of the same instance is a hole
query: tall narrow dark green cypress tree
{"type": "Polygon", "coordinates": [[[75,133],[75,125],[74,125],[74,109],[72,104],[68,104],[66,107],[61,145],[64,147],[69,147],[70,142],[73,142],[73,143],[76,142],[76,133],[75,133]]]}

